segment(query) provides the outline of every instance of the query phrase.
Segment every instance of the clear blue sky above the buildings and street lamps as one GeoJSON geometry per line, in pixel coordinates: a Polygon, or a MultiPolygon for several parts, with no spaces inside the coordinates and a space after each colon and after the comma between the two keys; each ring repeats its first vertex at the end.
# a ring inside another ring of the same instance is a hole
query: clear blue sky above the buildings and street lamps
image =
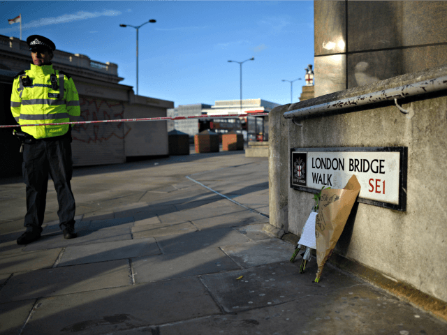
{"type": "Polygon", "coordinates": [[[314,3],[302,1],[0,1],[0,34],[20,37],[8,19],[22,14],[22,39],[38,34],[57,49],[118,64],[121,84],[175,106],[240,98],[299,101],[314,64],[314,3]]]}

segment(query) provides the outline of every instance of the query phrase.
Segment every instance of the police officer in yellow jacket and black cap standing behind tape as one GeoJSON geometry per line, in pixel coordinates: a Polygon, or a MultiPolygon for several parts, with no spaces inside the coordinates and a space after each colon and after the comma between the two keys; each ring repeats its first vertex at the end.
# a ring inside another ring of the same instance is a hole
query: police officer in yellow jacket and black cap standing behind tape
{"type": "MultiPolygon", "coordinates": [[[[69,75],[51,64],[54,43],[32,35],[27,38],[32,62],[29,70],[17,74],[11,94],[11,112],[18,124],[51,124],[75,121],[80,115],[78,91],[69,75]]],[[[29,244],[41,237],[50,174],[59,202],[59,227],[64,238],[77,237],[75,198],[71,192],[71,126],[26,126],[15,132],[22,140],[22,172],[27,185],[27,230],[17,244],[29,244]]]]}

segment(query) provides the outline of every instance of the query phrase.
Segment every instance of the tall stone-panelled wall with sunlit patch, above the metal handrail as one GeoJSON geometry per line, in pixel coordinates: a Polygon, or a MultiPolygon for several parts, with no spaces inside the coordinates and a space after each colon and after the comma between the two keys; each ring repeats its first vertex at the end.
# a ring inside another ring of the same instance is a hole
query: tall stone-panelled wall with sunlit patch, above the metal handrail
{"type": "Polygon", "coordinates": [[[446,63],[446,1],[314,1],[315,96],[446,63]]]}

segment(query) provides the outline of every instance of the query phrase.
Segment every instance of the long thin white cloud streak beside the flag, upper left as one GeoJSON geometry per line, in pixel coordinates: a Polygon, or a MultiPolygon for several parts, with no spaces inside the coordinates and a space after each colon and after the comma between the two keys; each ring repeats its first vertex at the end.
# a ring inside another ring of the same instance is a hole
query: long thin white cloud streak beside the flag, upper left
{"type": "MultiPolygon", "coordinates": [[[[117,16],[121,15],[121,12],[118,10],[112,10],[112,9],[106,9],[102,12],[85,12],[80,11],[78,13],[73,14],[64,14],[57,17],[43,17],[39,20],[34,20],[25,24],[22,24],[22,30],[26,30],[29,28],[37,28],[37,27],[43,27],[50,24],[61,24],[61,23],[68,23],[78,20],[87,20],[87,19],[94,19],[95,17],[100,16],[117,16]]],[[[15,27],[1,29],[0,32],[8,32],[8,31],[15,31],[17,30],[15,27]]]]}

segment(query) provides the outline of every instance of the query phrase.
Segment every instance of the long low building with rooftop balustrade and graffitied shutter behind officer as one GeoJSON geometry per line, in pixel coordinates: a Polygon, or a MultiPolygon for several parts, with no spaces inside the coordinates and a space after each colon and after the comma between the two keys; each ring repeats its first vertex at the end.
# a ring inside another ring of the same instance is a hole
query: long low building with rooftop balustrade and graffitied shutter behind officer
{"type": "MultiPolygon", "coordinates": [[[[15,124],[9,107],[13,78],[20,70],[28,69],[30,61],[26,42],[0,35],[1,124],[15,124]]],[[[54,51],[52,64],[73,77],[80,96],[80,121],[166,117],[166,110],[174,105],[172,101],[136,96],[131,86],[119,84],[123,78],[118,76],[117,64],[61,50],[54,51]]],[[[17,174],[17,162],[22,160],[18,141],[10,133],[10,128],[0,129],[0,154],[10,159],[8,164],[2,160],[1,175],[17,174]]],[[[78,124],[72,126],[72,136],[75,166],[168,155],[166,121],[78,124]]]]}

